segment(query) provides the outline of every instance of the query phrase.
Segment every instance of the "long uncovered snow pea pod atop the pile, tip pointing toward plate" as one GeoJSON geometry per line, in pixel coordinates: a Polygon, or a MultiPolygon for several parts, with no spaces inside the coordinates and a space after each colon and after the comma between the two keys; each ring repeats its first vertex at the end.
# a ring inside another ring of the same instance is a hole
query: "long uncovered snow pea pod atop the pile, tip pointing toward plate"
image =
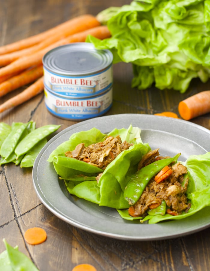
{"type": "Polygon", "coordinates": [[[15,148],[17,158],[23,154],[26,154],[26,152],[32,149],[39,141],[47,137],[49,134],[57,131],[60,126],[61,125],[45,125],[27,134],[26,137],[24,137],[15,148]]]}

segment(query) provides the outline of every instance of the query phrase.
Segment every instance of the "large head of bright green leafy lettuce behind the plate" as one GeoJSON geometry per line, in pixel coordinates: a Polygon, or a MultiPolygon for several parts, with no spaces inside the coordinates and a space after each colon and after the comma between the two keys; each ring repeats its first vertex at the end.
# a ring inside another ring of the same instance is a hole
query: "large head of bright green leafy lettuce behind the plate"
{"type": "Polygon", "coordinates": [[[132,63],[132,87],[184,93],[193,78],[206,82],[210,75],[209,11],[203,0],[132,1],[100,12],[111,37],[89,35],[86,42],[109,49],[113,63],[132,63]]]}

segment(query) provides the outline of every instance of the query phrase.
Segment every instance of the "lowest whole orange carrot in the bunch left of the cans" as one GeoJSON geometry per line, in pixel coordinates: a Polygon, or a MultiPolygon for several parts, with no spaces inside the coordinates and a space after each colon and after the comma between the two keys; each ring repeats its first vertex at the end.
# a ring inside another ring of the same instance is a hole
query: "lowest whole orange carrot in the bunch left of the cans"
{"type": "Polygon", "coordinates": [[[43,90],[44,90],[44,77],[42,76],[35,83],[26,88],[24,91],[7,100],[5,103],[2,103],[0,105],[0,113],[26,102],[27,100],[36,96],[43,90]]]}

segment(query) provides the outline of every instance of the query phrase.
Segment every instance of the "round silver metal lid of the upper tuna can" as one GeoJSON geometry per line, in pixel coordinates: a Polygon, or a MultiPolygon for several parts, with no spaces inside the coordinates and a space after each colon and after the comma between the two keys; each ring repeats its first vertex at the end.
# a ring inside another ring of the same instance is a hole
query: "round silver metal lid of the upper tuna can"
{"type": "Polygon", "coordinates": [[[62,75],[88,75],[112,64],[109,50],[97,50],[88,42],[76,42],[56,47],[43,57],[43,65],[51,72],[62,75]]]}

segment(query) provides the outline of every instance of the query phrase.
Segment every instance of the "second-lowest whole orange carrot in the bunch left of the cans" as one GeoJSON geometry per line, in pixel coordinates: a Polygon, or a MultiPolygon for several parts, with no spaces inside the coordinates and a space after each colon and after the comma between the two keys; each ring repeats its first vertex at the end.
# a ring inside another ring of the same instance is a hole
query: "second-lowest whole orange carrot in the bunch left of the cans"
{"type": "Polygon", "coordinates": [[[23,85],[29,84],[43,75],[43,66],[32,67],[0,84],[0,97],[23,85]]]}

